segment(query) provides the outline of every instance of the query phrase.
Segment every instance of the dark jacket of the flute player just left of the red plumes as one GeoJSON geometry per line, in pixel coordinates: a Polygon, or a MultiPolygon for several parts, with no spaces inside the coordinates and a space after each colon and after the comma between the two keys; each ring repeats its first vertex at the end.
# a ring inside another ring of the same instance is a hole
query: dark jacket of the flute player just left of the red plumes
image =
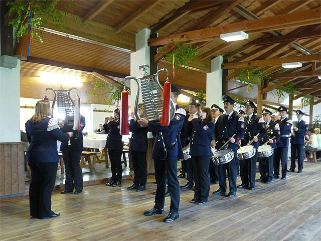
{"type": "Polygon", "coordinates": [[[120,135],[120,122],[112,121],[107,125],[103,125],[107,136],[106,146],[105,148],[110,150],[122,150],[124,148],[122,144],[122,135],[120,135]]]}

